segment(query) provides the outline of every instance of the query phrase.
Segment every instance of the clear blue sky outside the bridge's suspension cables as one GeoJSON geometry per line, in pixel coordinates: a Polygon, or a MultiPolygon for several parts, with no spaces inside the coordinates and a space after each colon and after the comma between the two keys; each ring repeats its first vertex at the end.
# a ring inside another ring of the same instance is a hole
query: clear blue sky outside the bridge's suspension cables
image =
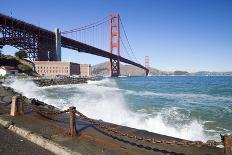
{"type": "MultiPolygon", "coordinates": [[[[0,12],[49,30],[119,13],[140,62],[149,55],[150,66],[161,70],[232,71],[232,0],[0,0],[0,12]]],[[[62,59],[107,61],[68,49],[62,59]]]]}

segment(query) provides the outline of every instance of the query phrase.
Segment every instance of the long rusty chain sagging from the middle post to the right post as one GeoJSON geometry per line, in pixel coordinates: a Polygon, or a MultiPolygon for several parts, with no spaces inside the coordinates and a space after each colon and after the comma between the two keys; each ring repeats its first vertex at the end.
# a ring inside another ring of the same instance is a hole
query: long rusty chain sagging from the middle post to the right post
{"type": "Polygon", "coordinates": [[[217,142],[214,140],[208,140],[206,143],[202,142],[202,141],[189,141],[189,140],[180,140],[180,141],[176,141],[176,140],[158,140],[155,138],[146,138],[146,137],[139,137],[139,136],[135,136],[135,135],[130,135],[128,133],[125,132],[121,132],[116,130],[115,128],[110,128],[107,127],[101,123],[98,123],[97,121],[94,121],[91,118],[88,118],[87,116],[85,116],[84,114],[82,114],[81,112],[76,110],[76,114],[79,115],[82,119],[88,121],[89,123],[91,123],[93,126],[95,126],[98,129],[102,129],[104,130],[107,134],[112,135],[119,135],[122,137],[127,137],[130,139],[134,139],[137,141],[143,141],[143,142],[149,142],[152,144],[170,144],[170,145],[182,145],[182,146],[197,146],[197,147],[201,147],[201,146],[218,146],[218,145],[224,145],[223,142],[217,142]]]}

